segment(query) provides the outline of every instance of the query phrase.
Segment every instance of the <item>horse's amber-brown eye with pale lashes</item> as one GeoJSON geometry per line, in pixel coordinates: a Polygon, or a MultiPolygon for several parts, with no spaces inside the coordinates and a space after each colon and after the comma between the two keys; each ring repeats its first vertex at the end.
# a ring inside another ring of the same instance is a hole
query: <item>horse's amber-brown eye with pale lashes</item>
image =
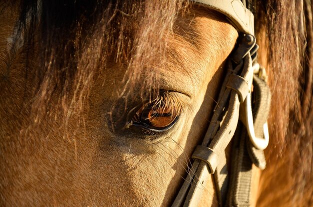
{"type": "Polygon", "coordinates": [[[149,129],[169,129],[177,120],[178,113],[175,109],[145,104],[141,107],[132,119],[133,124],[143,125],[149,129]]]}

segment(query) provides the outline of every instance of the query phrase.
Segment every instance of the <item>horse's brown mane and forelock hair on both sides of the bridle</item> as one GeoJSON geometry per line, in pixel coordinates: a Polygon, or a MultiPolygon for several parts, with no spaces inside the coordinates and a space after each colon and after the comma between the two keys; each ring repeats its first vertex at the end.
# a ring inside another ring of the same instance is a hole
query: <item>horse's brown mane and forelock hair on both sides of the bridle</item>
{"type": "MultiPolygon", "coordinates": [[[[254,1],[256,37],[262,49],[259,62],[267,68],[272,89],[269,117],[272,147],[266,150],[268,167],[261,176],[259,204],[264,204],[266,198],[267,204],[283,200],[290,206],[310,206],[312,0],[254,1]]],[[[188,6],[184,0],[42,0],[41,5],[38,2],[12,0],[3,5],[17,4],[19,8],[15,42],[22,38],[25,48],[35,45],[43,54],[38,57],[42,67],[26,67],[27,78],[36,84],[33,113],[43,113],[55,91],[61,91],[59,102],[64,111],[75,106],[82,110],[92,79],[105,74],[112,64],[108,59],[126,68],[117,95],[131,94],[130,88],[140,75],[164,56],[166,41],[161,40],[170,34],[176,17],[183,15],[188,6]],[[129,26],[129,22],[136,23],[129,26]],[[135,33],[133,27],[137,28],[135,33]],[[40,34],[35,36],[38,30],[40,34]],[[74,106],[68,100],[74,100],[74,106]]],[[[157,74],[151,74],[144,84],[142,87],[149,90],[157,88],[157,74]]]]}

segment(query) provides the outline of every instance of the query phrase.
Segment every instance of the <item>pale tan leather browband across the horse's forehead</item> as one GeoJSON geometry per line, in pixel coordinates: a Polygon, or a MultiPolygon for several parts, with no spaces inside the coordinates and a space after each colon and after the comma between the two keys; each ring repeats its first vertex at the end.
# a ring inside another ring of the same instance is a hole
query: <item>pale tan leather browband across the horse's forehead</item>
{"type": "Polygon", "coordinates": [[[254,17],[241,0],[193,0],[224,14],[232,25],[245,34],[254,35],[254,17]]]}

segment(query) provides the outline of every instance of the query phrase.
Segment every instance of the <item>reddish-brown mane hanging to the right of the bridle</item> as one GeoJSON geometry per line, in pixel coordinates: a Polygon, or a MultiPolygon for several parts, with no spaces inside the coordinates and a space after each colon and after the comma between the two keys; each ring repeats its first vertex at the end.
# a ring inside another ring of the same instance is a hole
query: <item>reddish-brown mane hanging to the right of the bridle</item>
{"type": "Polygon", "coordinates": [[[259,1],[255,10],[257,39],[264,49],[259,61],[267,67],[272,89],[271,147],[259,204],[311,206],[312,1],[259,1]]]}

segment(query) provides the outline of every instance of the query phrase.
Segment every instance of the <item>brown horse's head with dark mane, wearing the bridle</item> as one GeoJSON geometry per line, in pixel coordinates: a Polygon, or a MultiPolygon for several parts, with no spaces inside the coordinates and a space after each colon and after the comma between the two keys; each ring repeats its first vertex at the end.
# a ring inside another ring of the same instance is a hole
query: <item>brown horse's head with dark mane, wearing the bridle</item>
{"type": "MultiPolygon", "coordinates": [[[[250,205],[311,206],[313,4],[250,3],[272,93],[250,205]]],[[[171,205],[239,35],[187,0],[1,0],[0,205],[171,205]]]]}

